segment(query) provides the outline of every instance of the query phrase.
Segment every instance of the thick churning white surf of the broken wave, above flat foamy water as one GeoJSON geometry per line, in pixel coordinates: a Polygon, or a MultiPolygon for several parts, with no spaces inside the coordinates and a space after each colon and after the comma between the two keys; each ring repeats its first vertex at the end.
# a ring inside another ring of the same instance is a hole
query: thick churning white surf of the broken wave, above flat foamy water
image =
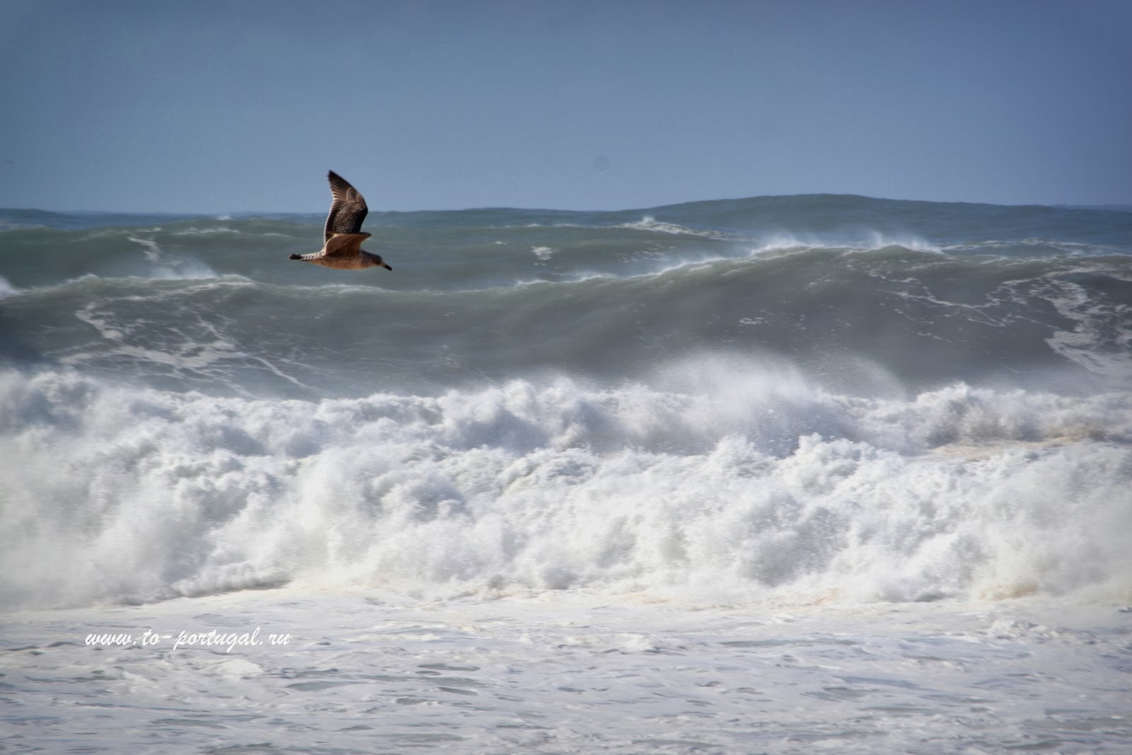
{"type": "Polygon", "coordinates": [[[515,380],[320,403],[8,374],[5,600],[1130,589],[1129,396],[876,401],[747,369],[712,378],[726,391],[515,380]]]}

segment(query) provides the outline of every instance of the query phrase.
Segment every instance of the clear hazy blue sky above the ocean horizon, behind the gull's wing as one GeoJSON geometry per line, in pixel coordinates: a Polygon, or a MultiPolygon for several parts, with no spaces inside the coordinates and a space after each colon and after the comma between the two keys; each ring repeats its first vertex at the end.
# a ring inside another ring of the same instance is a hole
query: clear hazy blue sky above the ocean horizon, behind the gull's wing
{"type": "Polygon", "coordinates": [[[0,0],[0,206],[1132,204],[1132,0],[0,0]]]}

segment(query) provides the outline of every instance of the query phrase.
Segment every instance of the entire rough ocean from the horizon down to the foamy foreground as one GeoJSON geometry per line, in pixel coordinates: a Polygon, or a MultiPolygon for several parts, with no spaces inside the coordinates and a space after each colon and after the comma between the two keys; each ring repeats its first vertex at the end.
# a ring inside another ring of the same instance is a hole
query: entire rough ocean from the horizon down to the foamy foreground
{"type": "Polygon", "coordinates": [[[0,752],[1132,752],[1132,208],[0,211],[0,752]]]}

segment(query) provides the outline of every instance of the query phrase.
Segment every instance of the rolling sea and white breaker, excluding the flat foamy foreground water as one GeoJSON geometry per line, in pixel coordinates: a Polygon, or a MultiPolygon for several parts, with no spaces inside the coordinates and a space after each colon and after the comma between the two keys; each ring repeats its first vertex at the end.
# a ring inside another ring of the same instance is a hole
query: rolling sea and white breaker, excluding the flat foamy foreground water
{"type": "Polygon", "coordinates": [[[1127,594],[1132,214],[2,213],[0,599],[1127,594]]]}

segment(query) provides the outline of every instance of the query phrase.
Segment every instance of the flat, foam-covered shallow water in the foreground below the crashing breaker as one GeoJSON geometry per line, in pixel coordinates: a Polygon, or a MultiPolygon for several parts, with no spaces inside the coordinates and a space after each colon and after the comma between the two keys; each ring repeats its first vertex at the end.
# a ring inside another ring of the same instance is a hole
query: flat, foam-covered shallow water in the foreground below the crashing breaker
{"type": "Polygon", "coordinates": [[[274,590],[28,611],[3,626],[9,720],[53,752],[1127,750],[1113,663],[1132,621],[1112,606],[620,598],[274,590]],[[173,650],[256,628],[231,652],[173,650]],[[162,636],[84,642],[146,630],[162,636]]]}

